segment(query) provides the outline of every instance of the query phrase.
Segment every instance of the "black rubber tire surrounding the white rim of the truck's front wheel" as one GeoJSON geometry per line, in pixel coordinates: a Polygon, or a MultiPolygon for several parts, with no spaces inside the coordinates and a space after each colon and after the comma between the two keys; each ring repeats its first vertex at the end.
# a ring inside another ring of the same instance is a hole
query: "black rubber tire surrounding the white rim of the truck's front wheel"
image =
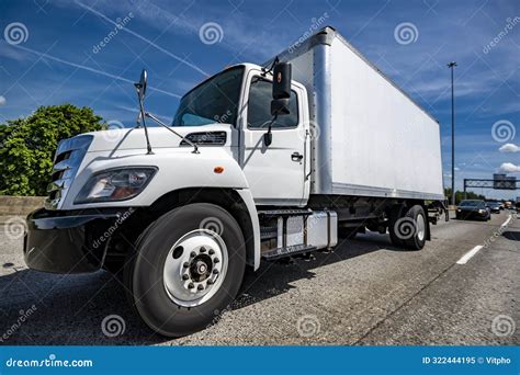
{"type": "Polygon", "coordinates": [[[138,315],[154,331],[181,337],[207,327],[237,295],[246,268],[242,232],[224,208],[195,203],[178,207],[152,223],[137,240],[135,252],[125,266],[128,298],[138,315]],[[172,246],[184,235],[201,228],[207,218],[222,223],[221,238],[227,248],[227,272],[217,292],[206,302],[184,307],[168,295],[163,265],[172,246]]]}

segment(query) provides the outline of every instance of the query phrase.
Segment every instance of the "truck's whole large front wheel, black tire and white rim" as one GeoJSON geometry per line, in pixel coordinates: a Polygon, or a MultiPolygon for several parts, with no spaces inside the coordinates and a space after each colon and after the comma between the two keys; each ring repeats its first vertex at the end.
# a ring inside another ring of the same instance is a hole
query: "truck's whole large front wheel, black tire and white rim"
{"type": "Polygon", "coordinates": [[[227,211],[206,203],[176,208],[138,239],[125,269],[129,299],[156,332],[195,332],[233,302],[245,260],[242,232],[227,211]]]}

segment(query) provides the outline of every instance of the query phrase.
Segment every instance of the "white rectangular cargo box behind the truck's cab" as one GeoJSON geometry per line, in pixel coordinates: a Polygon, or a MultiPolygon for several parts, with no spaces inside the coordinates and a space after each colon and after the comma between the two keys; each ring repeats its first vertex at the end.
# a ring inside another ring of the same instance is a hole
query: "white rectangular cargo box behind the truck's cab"
{"type": "Polygon", "coordinates": [[[439,123],[341,35],[279,58],[308,93],[312,194],[443,198],[439,123]]]}

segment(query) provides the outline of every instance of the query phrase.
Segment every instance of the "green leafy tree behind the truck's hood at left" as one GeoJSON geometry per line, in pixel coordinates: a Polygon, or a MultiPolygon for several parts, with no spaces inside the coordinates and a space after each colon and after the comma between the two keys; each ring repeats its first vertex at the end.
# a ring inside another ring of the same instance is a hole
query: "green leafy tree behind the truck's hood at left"
{"type": "Polygon", "coordinates": [[[59,140],[104,128],[91,109],[71,104],[41,106],[0,124],[0,194],[47,195],[59,140]]]}

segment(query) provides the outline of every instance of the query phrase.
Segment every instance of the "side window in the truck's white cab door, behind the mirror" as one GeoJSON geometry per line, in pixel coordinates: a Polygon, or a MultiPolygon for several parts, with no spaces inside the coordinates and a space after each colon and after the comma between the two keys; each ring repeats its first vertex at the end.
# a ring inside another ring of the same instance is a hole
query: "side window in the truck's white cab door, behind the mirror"
{"type": "MultiPolygon", "coordinates": [[[[267,128],[271,115],[272,83],[260,77],[253,77],[249,89],[247,125],[249,128],[267,128]]],[[[298,126],[298,100],[292,90],[289,100],[290,114],[278,116],[272,128],[289,128],[298,126]]]]}

